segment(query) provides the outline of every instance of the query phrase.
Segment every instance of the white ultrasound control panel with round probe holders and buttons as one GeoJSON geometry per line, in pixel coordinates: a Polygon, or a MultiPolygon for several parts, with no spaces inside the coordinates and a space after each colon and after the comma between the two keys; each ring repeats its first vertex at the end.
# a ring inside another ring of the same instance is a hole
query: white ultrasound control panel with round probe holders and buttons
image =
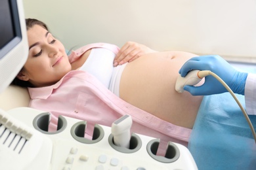
{"type": "Polygon", "coordinates": [[[181,144],[169,142],[165,156],[157,156],[159,139],[131,133],[127,148],[114,143],[111,127],[96,124],[87,139],[86,121],[60,116],[50,132],[50,119],[49,112],[27,107],[0,112],[3,169],[198,169],[181,144]]]}

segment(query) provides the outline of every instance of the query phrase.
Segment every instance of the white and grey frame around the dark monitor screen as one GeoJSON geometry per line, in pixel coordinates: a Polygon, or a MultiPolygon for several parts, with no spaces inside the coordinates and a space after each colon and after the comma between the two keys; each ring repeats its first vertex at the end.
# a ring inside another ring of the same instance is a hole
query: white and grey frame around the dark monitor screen
{"type": "Polygon", "coordinates": [[[0,93],[11,84],[12,80],[28,58],[28,37],[21,0],[9,0],[14,38],[1,49],[0,58],[0,93]]]}

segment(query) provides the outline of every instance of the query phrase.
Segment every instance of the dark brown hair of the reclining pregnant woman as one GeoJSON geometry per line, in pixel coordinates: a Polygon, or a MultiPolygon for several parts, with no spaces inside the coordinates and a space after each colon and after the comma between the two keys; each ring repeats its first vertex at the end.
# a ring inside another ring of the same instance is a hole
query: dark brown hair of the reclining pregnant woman
{"type": "MultiPolygon", "coordinates": [[[[26,26],[27,26],[27,31],[33,27],[33,25],[39,25],[43,28],[45,28],[48,31],[48,27],[45,23],[36,20],[36,19],[32,19],[32,18],[28,18],[26,19],[26,26]]],[[[24,69],[24,67],[21,69],[21,71],[24,69]]],[[[29,81],[24,81],[24,80],[20,80],[17,77],[14,78],[14,80],[12,80],[12,83],[14,85],[17,86],[22,86],[22,87],[33,87],[33,85],[29,82],[29,81]]]]}

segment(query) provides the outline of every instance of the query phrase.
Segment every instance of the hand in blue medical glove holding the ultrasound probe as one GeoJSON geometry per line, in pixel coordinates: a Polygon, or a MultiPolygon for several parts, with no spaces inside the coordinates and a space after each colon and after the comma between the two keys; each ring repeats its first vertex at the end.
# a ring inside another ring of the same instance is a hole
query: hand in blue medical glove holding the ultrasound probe
{"type": "MultiPolygon", "coordinates": [[[[226,60],[217,55],[199,56],[191,58],[181,67],[179,73],[182,77],[191,70],[209,70],[218,75],[231,88],[234,93],[244,95],[247,73],[237,71],[226,60]]],[[[202,86],[184,86],[184,90],[192,95],[211,95],[228,92],[216,78],[209,75],[205,77],[202,86]]]]}

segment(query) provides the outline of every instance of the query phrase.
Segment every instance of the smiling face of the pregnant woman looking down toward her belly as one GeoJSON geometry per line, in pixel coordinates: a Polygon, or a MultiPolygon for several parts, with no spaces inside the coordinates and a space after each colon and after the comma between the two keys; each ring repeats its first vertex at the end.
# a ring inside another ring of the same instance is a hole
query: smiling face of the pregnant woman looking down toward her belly
{"type": "Polygon", "coordinates": [[[51,86],[71,71],[63,44],[40,25],[28,29],[29,54],[18,78],[35,87],[51,86]]]}

